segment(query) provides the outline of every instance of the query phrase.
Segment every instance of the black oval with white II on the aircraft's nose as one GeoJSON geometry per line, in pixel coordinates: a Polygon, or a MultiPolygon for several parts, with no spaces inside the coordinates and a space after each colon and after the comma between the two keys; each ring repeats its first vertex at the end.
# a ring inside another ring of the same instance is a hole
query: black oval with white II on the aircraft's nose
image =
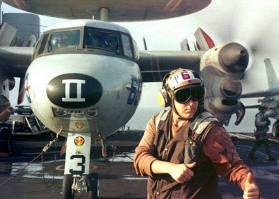
{"type": "Polygon", "coordinates": [[[101,83],[88,75],[69,73],[54,77],[46,88],[49,100],[62,108],[86,108],[102,97],[101,83]]]}

